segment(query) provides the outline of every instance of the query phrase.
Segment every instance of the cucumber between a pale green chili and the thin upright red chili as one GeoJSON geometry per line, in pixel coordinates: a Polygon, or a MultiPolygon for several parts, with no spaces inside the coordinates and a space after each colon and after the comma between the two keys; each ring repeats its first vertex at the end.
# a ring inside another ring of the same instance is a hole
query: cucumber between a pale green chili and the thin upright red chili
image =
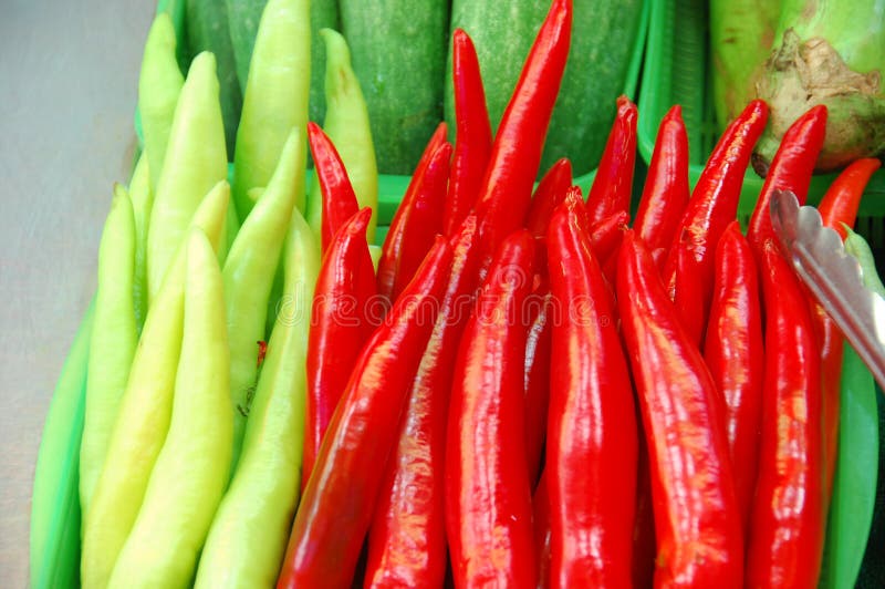
{"type": "Polygon", "coordinates": [[[447,0],[341,0],[378,172],[412,174],[442,120],[447,0]]]}

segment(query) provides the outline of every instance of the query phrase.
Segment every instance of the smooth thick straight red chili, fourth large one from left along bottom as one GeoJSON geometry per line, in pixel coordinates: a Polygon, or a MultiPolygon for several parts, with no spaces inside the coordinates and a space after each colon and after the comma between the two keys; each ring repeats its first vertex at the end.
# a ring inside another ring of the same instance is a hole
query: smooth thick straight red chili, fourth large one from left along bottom
{"type": "Polygon", "coordinates": [[[551,586],[628,587],[636,496],[633,385],[590,237],[560,208],[548,231],[553,323],[546,486],[551,586]]]}

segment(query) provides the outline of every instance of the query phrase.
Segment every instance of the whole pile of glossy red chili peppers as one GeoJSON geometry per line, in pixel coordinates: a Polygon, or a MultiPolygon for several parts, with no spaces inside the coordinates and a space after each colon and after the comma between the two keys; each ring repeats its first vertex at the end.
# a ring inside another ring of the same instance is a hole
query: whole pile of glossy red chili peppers
{"type": "MultiPolygon", "coordinates": [[[[841,335],[773,237],[824,135],[791,127],[747,235],[750,103],[694,190],[678,106],[631,224],[625,97],[586,202],[562,159],[538,187],[565,68],[555,0],[492,137],[454,35],[456,142],[440,125],[377,275],[334,146],[308,358],[303,496],[279,587],[814,587],[835,457],[841,335]]],[[[877,167],[821,203],[853,224],[877,167]]]]}

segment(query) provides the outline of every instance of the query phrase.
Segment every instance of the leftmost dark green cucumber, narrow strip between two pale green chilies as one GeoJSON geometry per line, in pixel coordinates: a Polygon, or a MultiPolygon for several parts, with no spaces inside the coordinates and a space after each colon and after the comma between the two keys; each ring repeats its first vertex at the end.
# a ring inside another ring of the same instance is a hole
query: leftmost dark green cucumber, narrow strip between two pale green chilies
{"type": "Polygon", "coordinates": [[[215,53],[218,69],[219,100],[221,118],[225,121],[225,141],[228,159],[233,159],[233,144],[237,141],[237,125],[242,110],[242,92],[237,79],[237,64],[233,59],[233,44],[228,30],[228,9],[217,0],[187,0],[187,40],[190,51],[215,53]]]}

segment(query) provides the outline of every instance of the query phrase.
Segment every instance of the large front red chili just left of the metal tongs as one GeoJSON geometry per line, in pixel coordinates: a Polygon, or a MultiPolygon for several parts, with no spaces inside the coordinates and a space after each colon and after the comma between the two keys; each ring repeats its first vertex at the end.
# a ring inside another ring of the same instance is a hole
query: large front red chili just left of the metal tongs
{"type": "Polygon", "coordinates": [[[789,264],[772,240],[758,254],[766,375],[747,586],[818,587],[824,529],[820,353],[789,264]]]}

